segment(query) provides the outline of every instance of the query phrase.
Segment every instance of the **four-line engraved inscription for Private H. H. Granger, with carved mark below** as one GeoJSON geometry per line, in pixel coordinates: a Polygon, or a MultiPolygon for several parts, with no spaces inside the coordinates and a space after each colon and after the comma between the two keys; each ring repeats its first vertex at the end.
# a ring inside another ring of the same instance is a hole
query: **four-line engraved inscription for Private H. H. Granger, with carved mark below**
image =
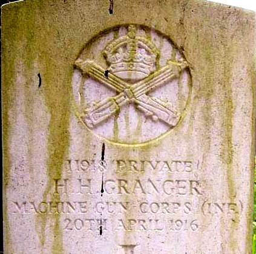
{"type": "MultiPolygon", "coordinates": [[[[202,229],[204,217],[240,220],[240,200],[214,200],[205,192],[199,160],[105,160],[105,153],[104,147],[99,159],[67,159],[64,176],[51,179],[50,195],[58,201],[13,200],[13,214],[59,215],[64,232],[100,235],[192,233],[202,229]]],[[[134,253],[136,244],[119,246],[134,253]]]]}

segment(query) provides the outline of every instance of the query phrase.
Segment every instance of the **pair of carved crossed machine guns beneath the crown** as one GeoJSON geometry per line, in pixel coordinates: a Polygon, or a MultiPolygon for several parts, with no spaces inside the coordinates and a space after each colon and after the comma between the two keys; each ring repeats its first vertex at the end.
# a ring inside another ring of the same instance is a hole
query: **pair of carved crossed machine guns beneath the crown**
{"type": "Polygon", "coordinates": [[[151,117],[153,121],[163,121],[170,127],[175,126],[179,121],[179,114],[172,109],[170,104],[163,102],[159,98],[150,97],[146,93],[179,77],[182,71],[188,67],[185,60],[182,59],[177,62],[168,60],[167,65],[135,84],[126,83],[125,80],[111,73],[108,73],[108,77],[106,77],[105,69],[90,60],[78,59],[75,62],[75,66],[82,71],[83,75],[88,75],[119,92],[118,95],[107,97],[90,109],[85,110],[85,115],[81,118],[88,127],[93,128],[100,122],[110,118],[110,116],[119,113],[120,107],[127,103],[133,103],[137,109],[145,113],[147,117],[151,117]]]}

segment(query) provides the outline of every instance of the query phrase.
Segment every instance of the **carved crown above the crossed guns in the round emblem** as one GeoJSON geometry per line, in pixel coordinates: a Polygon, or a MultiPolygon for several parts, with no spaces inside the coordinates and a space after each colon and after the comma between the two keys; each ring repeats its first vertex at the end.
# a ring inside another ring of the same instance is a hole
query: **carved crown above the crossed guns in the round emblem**
{"type": "Polygon", "coordinates": [[[136,35],[136,27],[130,25],[128,33],[107,44],[102,51],[109,69],[123,80],[138,81],[156,70],[159,51],[146,37],[136,35]]]}

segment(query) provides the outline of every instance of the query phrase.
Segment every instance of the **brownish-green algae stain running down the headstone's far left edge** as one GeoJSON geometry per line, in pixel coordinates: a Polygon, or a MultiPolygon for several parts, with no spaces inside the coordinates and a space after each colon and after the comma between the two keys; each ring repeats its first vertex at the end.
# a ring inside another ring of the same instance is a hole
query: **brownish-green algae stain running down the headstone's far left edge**
{"type": "Polygon", "coordinates": [[[10,145],[10,112],[13,109],[13,101],[15,100],[15,80],[16,80],[16,63],[22,58],[21,34],[17,30],[22,29],[19,21],[22,13],[19,11],[18,4],[5,5],[2,7],[2,155],[3,155],[3,220],[4,220],[4,248],[6,253],[15,253],[11,241],[11,228],[8,216],[8,186],[10,183],[11,158],[9,153],[10,145]],[[15,30],[15,28],[17,30],[15,30]],[[19,40],[19,44],[15,45],[15,40],[19,40]]]}

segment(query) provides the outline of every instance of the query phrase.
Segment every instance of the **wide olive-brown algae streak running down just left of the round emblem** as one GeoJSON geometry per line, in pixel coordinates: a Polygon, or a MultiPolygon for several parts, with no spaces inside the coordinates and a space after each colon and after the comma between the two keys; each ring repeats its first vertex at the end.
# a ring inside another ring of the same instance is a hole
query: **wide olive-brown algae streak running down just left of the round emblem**
{"type": "MultiPolygon", "coordinates": [[[[50,20],[50,18],[47,18],[47,22],[50,23],[50,20]]],[[[39,26],[40,23],[42,23],[42,26],[47,27],[45,19],[42,17],[39,19],[39,26]]],[[[52,29],[54,30],[54,28],[52,29]]],[[[60,31],[61,29],[65,28],[59,28],[60,31]]],[[[38,33],[38,43],[41,47],[39,49],[41,54],[39,54],[38,58],[42,77],[41,89],[47,113],[50,115],[47,138],[47,168],[43,169],[47,170],[47,183],[42,201],[59,202],[61,201],[61,195],[53,194],[53,187],[54,179],[61,179],[62,177],[62,166],[65,156],[67,156],[70,142],[68,127],[70,122],[70,89],[73,67],[65,59],[67,52],[61,45],[62,41],[57,44],[54,42],[53,37],[45,36],[41,31],[41,33],[38,33]],[[45,43],[40,43],[42,40],[45,43]],[[48,51],[48,48],[52,50],[48,51]]],[[[52,244],[51,254],[64,253],[60,220],[61,215],[59,213],[36,215],[36,229],[41,241],[41,253],[44,253],[44,245],[48,240],[51,240],[52,244]],[[46,232],[48,224],[53,225],[50,227],[51,233],[46,232]],[[50,235],[52,237],[48,239],[50,235]]]]}

